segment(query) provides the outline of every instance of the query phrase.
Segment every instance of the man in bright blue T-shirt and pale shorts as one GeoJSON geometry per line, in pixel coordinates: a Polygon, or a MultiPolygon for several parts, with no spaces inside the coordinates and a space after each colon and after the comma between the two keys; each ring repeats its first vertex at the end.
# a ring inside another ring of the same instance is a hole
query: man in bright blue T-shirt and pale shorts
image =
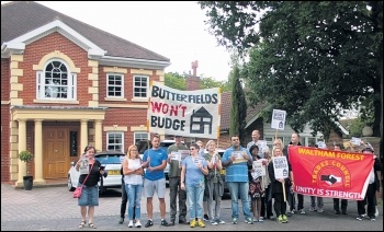
{"type": "Polygon", "coordinates": [[[154,225],[154,205],[153,197],[156,192],[160,201],[161,225],[169,227],[166,220],[166,175],[163,170],[167,167],[167,152],[160,149],[160,137],[155,135],[153,138],[153,148],[144,152],[143,167],[146,167],[144,175],[144,193],[147,197],[148,221],[144,225],[149,228],[154,225]]]}

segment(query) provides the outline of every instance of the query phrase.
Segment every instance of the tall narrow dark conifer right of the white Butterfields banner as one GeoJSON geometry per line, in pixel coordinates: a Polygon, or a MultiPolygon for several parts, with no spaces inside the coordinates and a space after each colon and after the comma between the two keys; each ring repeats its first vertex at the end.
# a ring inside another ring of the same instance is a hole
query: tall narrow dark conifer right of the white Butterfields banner
{"type": "Polygon", "coordinates": [[[240,142],[245,142],[246,137],[247,103],[242,85],[240,82],[240,70],[235,65],[233,70],[231,108],[229,135],[238,135],[240,142]]]}

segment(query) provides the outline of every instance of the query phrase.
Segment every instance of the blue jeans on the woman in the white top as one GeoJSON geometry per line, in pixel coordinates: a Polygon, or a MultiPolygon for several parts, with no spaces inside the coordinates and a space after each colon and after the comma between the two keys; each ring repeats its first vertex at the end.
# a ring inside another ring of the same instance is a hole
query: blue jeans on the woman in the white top
{"type": "Polygon", "coordinates": [[[143,185],[125,185],[125,190],[128,196],[128,217],[129,220],[133,220],[134,217],[140,219],[140,201],[142,201],[142,192],[143,185]]]}

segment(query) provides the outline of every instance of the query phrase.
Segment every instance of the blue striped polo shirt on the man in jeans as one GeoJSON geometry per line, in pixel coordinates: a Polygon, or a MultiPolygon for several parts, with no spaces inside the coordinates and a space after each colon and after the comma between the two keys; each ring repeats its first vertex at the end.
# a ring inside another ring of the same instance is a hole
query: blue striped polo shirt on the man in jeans
{"type": "MultiPolygon", "coordinates": [[[[252,156],[250,155],[248,149],[240,147],[241,152],[247,152],[248,159],[251,161],[252,156]]],[[[230,156],[235,152],[234,147],[225,150],[223,154],[223,163],[230,160],[230,156]]],[[[225,181],[226,182],[248,182],[248,162],[240,163],[230,163],[229,166],[225,167],[225,181]]]]}

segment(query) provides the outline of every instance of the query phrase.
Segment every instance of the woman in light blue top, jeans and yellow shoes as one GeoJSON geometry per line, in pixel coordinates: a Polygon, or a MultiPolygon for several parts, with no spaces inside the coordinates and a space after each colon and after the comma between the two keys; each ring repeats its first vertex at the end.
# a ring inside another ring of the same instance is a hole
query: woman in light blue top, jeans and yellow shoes
{"type": "Polygon", "coordinates": [[[181,166],[181,189],[187,192],[190,211],[190,227],[205,228],[203,218],[204,175],[208,169],[204,158],[199,155],[199,146],[191,144],[191,155],[187,156],[181,166]],[[197,219],[197,220],[196,220],[197,219]]]}

